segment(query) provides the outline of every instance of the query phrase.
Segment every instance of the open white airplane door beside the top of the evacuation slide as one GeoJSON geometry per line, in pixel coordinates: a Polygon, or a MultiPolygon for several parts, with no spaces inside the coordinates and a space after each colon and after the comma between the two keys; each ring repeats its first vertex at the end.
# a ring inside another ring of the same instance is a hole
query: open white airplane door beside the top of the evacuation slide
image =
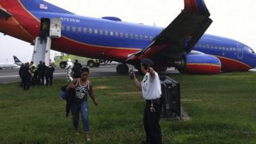
{"type": "Polygon", "coordinates": [[[61,19],[51,19],[50,36],[52,38],[61,37],[61,19]]]}

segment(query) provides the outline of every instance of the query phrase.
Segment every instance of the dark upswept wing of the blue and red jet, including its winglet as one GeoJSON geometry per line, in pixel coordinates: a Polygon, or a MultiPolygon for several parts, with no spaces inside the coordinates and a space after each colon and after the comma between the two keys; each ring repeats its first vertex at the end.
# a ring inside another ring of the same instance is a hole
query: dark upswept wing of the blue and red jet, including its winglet
{"type": "Polygon", "coordinates": [[[204,0],[184,0],[184,10],[145,49],[132,54],[127,63],[141,58],[168,61],[189,53],[211,25],[204,0]]]}

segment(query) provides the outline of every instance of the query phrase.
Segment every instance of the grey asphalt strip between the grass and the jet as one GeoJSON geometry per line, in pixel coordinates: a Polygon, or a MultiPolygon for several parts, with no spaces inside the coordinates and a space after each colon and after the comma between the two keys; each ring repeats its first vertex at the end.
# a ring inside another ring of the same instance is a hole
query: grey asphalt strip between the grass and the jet
{"type": "MultiPolygon", "coordinates": [[[[124,76],[116,72],[117,65],[105,65],[98,68],[90,68],[90,77],[124,76]]],[[[129,66],[131,69],[131,66],[129,66]]],[[[179,73],[177,70],[168,69],[163,74],[179,73]]],[[[67,70],[56,67],[54,79],[66,79],[67,70]]],[[[127,76],[128,77],[128,76],[127,76]]],[[[19,69],[0,70],[0,83],[14,83],[20,81],[19,69]]]]}

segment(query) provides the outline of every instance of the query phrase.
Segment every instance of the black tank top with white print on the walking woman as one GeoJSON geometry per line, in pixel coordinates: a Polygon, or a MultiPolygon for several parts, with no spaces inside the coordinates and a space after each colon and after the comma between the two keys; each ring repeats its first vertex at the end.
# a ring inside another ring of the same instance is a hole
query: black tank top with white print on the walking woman
{"type": "Polygon", "coordinates": [[[77,104],[81,104],[84,101],[87,101],[87,95],[88,92],[90,90],[90,86],[89,86],[89,81],[87,80],[87,83],[85,84],[85,86],[82,86],[80,84],[80,79],[77,79],[76,82],[76,88],[75,88],[75,97],[73,97],[72,102],[77,103],[77,104]]]}

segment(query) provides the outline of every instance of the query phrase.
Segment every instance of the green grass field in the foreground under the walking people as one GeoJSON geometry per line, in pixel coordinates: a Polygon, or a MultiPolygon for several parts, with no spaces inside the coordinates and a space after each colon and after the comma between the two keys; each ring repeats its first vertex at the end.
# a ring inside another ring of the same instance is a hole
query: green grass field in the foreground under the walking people
{"type": "MultiPolygon", "coordinates": [[[[161,121],[163,143],[256,143],[256,73],[213,76],[170,75],[181,84],[182,106],[192,117],[161,121]]],[[[141,79],[141,77],[140,77],[141,79]]],[[[141,143],[144,139],[141,93],[128,77],[91,78],[99,101],[90,100],[92,143],[141,143]]],[[[23,91],[0,84],[0,143],[85,143],[65,117],[63,80],[23,91]]],[[[83,132],[80,122],[80,131],[83,132]]]]}

